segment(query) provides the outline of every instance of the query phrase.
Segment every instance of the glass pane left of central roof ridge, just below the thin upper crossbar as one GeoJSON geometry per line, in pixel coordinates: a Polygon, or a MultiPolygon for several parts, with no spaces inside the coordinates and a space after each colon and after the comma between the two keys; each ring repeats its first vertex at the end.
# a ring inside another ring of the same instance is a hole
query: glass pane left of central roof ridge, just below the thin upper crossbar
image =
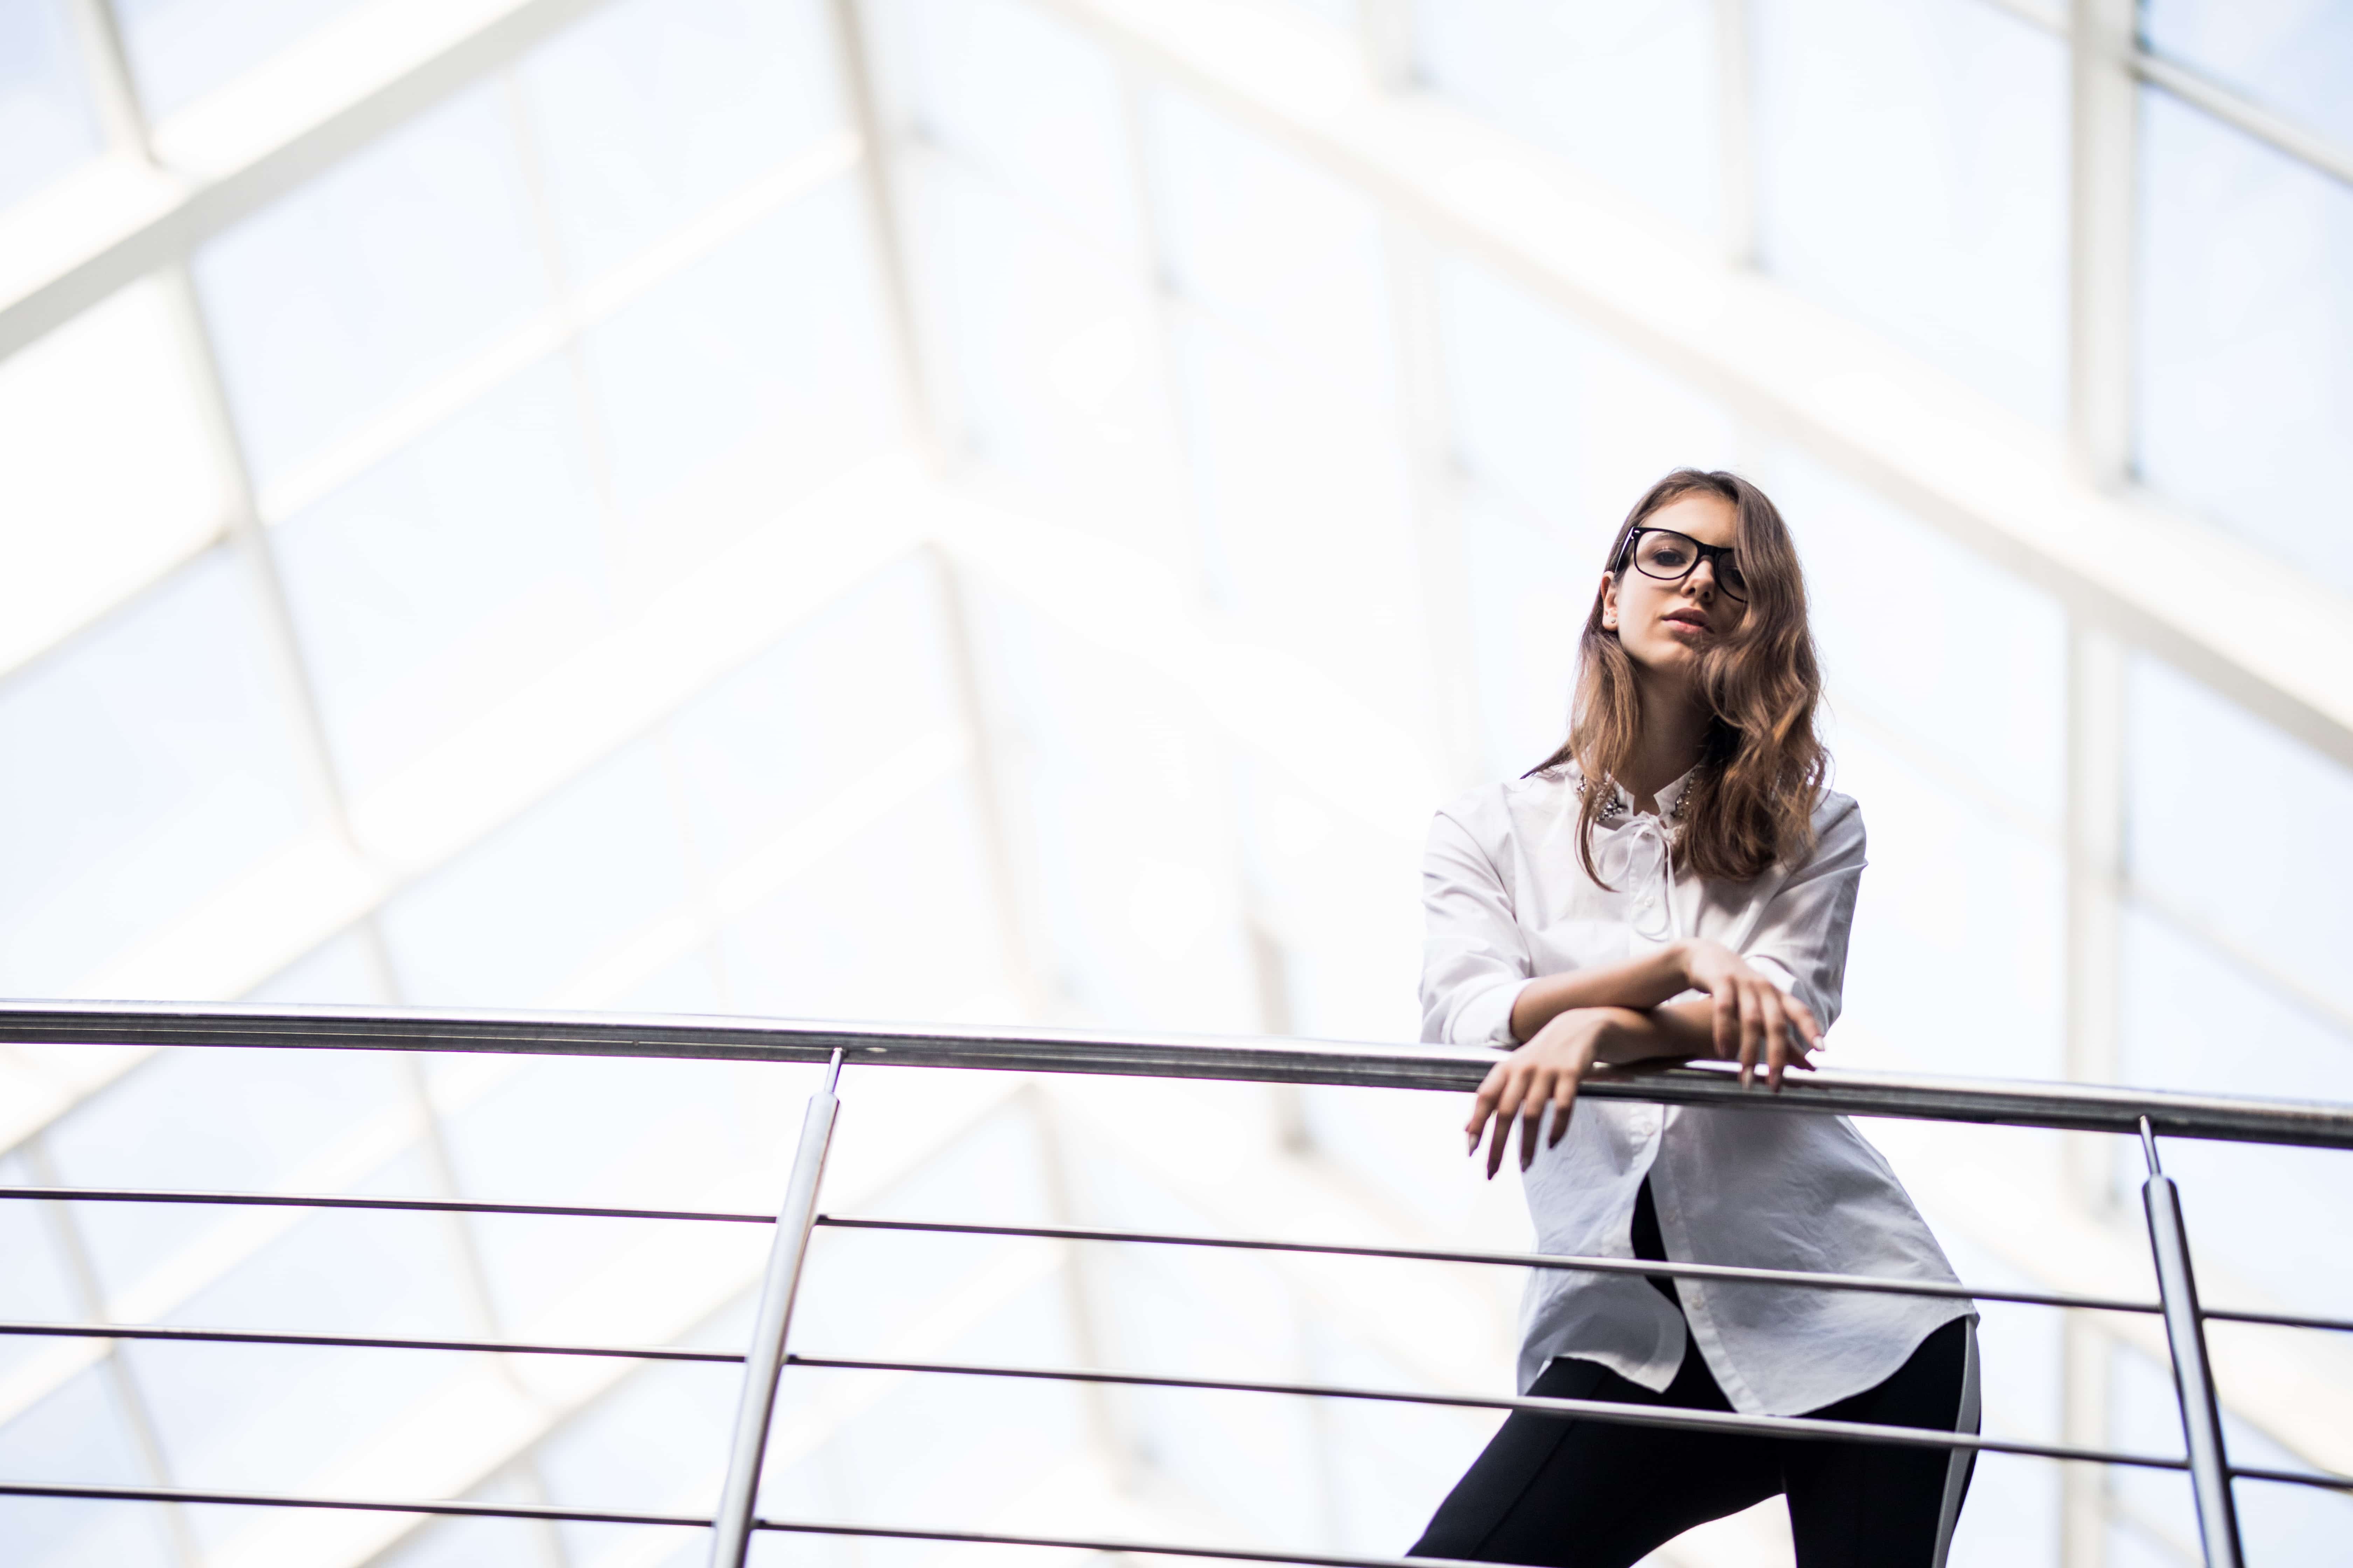
{"type": "Polygon", "coordinates": [[[584,339],[624,512],[687,503],[626,534],[628,567],[696,555],[767,522],[889,435],[873,261],[847,179],[795,200],[584,339]]]}

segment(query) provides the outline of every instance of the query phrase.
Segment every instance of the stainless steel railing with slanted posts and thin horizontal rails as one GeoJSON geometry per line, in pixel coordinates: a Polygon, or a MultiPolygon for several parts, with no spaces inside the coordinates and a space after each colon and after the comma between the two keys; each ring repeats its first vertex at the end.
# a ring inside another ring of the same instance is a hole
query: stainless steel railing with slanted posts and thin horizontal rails
{"type": "Polygon", "coordinates": [[[1094,1552],[1132,1552],[1167,1556],[1212,1556],[1231,1561],[1318,1563],[1329,1568],[1402,1568],[1407,1559],[1367,1559],[1301,1552],[1257,1552],[1179,1542],[1132,1542],[1092,1537],[1038,1537],[984,1530],[920,1530],[864,1523],[819,1523],[760,1519],[758,1479],[774,1413],[779,1378],[786,1366],[835,1371],[889,1371],[951,1378],[1021,1378],[1056,1382],[1094,1382],[1127,1387],[1186,1387],[1311,1399],[1365,1399],[1391,1403],[1428,1403],[1487,1410],[1534,1410],[1579,1415],[1602,1422],[1689,1427],[1706,1432],[1769,1434],[1802,1441],[1873,1441],[1920,1448],[1969,1448],[1979,1453],[2017,1453],[2052,1460],[2125,1465],[2144,1469],[2188,1472],[2198,1505],[2205,1561],[2214,1568],[2242,1563],[2231,1483],[2275,1481],[2353,1490],[2353,1476],[2299,1469],[2264,1469],[2233,1465],[2224,1448],[2221,1403],[2205,1349],[2205,1321],[2245,1321],[2315,1331],[2353,1331],[2353,1321],[2308,1314],[2226,1312],[2198,1302],[2188,1237],[2174,1182],[2158,1164],[2158,1138],[2217,1138],[2231,1143],[2275,1143],[2306,1147],[2353,1147],[2353,1107],[2289,1100],[2252,1100],[2224,1095],[2186,1095],[2165,1091],[2101,1088],[2078,1084],[2005,1084],[1974,1079],[1887,1077],[1821,1072],[1786,1086],[1779,1095],[1744,1091],[1739,1081],[1713,1065],[1621,1072],[1598,1077],[1586,1086],[1593,1098],[1626,1098],[1675,1105],[1734,1105],[1758,1114],[1866,1114],[1913,1117],[1934,1121],[1974,1121],[2002,1126],[2040,1126],[2073,1131],[2137,1133],[2146,1152],[2151,1258],[2158,1276],[2158,1300],[2080,1295],[2061,1291],[2005,1291],[1981,1286],[1946,1286],[1932,1281],[1892,1281],[1873,1276],[1805,1274],[1791,1269],[1748,1269],[1706,1262],[1657,1262],[1628,1258],[1574,1258],[1548,1253],[1475,1253],[1435,1248],[1377,1248],[1318,1241],[1278,1241],[1247,1237],[1198,1237],[1174,1232],[967,1225],[934,1220],[861,1220],[819,1213],[826,1154],[840,1112],[838,1086],[845,1067],[965,1067],[1012,1072],[1085,1072],[1129,1077],[1205,1077],[1238,1081],[1353,1084],[1388,1088],[1466,1091],[1492,1065],[1482,1051],[1337,1046],[1318,1041],[1231,1041],[1195,1037],[1101,1037],[1038,1030],[960,1030],[939,1032],[892,1025],[802,1025],[762,1020],[706,1018],[614,1018],[614,1016],[532,1016],[532,1013],[438,1013],[369,1009],[252,1009],[252,1006],[127,1006],[127,1004],[24,1004],[0,1001],[0,1044],[122,1044],[122,1046],[282,1046],[282,1048],[358,1048],[358,1051],[499,1051],[562,1056],[675,1056],[718,1060],[824,1060],[831,1065],[824,1088],[812,1095],[793,1159],[786,1201],[776,1215],[678,1211],[678,1208],[605,1208],[565,1204],[473,1204],[459,1199],[388,1199],[348,1194],[266,1194],[266,1192],[176,1192],[127,1187],[0,1187],[7,1199],[52,1199],[92,1204],[264,1204],[306,1208],[407,1208],[440,1213],[522,1213],[579,1218],[635,1218],[673,1222],[772,1225],[769,1267],[760,1291],[760,1309],[746,1352],[685,1349],[666,1345],[532,1345],[513,1340],[428,1340],[386,1335],[315,1335],[261,1333],[238,1328],[172,1328],[127,1324],[5,1324],[0,1335],[61,1335],[111,1340],[205,1340],[259,1345],[334,1345],[372,1349],[499,1352],[532,1356],[624,1356],[642,1361],[727,1361],[741,1363],[744,1385],[729,1448],[720,1509],[713,1516],[635,1514],[565,1509],[539,1505],[492,1505],[461,1500],[358,1500],[296,1497],[268,1493],[216,1493],[186,1488],[73,1486],[0,1479],[0,1495],[216,1502],[245,1507],[322,1507],[369,1509],[440,1516],[548,1519],[579,1523],[642,1523],[711,1530],[713,1568],[741,1568],[755,1530],[868,1535],[899,1540],[984,1542],[1026,1547],[1073,1547],[1094,1552]],[[1165,1378],[1094,1368],[984,1366],[951,1361],[868,1361],[840,1356],[798,1356],[788,1349],[793,1302],[814,1229],[896,1229],[939,1234],[1047,1237],[1073,1244],[1141,1244],[1287,1251],[1322,1255],[1398,1258],[1424,1262],[1473,1262],[1504,1267],[1584,1269],[1621,1274],[1666,1274],[1680,1279],[1746,1281],[1758,1286],[1802,1286],[1831,1291],[1875,1291],[1908,1295],[1965,1295],[2042,1307],[2097,1312],[2134,1312],[2165,1319],[2172,1349],[2177,1399],[2181,1406],[2184,1458],[2085,1448],[2071,1443],[2028,1443],[1960,1432],[1925,1432],[1915,1427],[1878,1427],[1788,1415],[1732,1415],[1678,1410],[1661,1406],[1626,1406],[1593,1399],[1525,1399],[1482,1394],[1424,1394],[1407,1389],[1337,1387],[1306,1382],[1247,1382],[1217,1378],[1165,1378]]]}

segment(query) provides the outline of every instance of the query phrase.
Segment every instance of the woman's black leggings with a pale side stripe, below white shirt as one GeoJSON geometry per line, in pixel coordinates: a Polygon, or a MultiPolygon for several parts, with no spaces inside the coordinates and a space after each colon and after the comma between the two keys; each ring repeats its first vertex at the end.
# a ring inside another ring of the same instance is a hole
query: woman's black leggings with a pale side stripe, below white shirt
{"type": "MultiPolygon", "coordinates": [[[[1638,1244],[1635,1255],[1659,1253],[1638,1244]]],[[[1878,1387],[1809,1415],[1953,1432],[1962,1425],[1969,1354],[1969,1324],[1955,1319],[1878,1387]]],[[[1529,1394],[1732,1408],[1692,1345],[1664,1394],[1572,1356],[1544,1368],[1529,1394]]],[[[1974,1420],[1967,1425],[1974,1429],[1974,1420]]],[[[1941,1568],[1972,1458],[1515,1410],[1438,1505],[1412,1556],[1626,1568],[1692,1526],[1786,1493],[1800,1568],[1941,1568]]]]}

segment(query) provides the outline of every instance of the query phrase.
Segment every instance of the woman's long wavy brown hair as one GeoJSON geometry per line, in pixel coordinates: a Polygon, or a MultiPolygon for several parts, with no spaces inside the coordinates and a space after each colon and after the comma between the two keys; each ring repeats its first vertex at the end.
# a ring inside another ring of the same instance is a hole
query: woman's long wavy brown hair
{"type": "MultiPolygon", "coordinates": [[[[1720,496],[1739,515],[1732,548],[1748,578],[1748,614],[1699,656],[1694,691],[1708,708],[1708,731],[1682,797],[1673,853],[1675,865],[1701,877],[1748,882],[1772,865],[1800,863],[1814,846],[1814,799],[1831,766],[1814,733],[1821,663],[1805,621],[1798,545],[1765,491],[1739,475],[1678,468],[1652,484],[1609,543],[1609,571],[1631,571],[1628,536],[1661,505],[1689,494],[1720,496]]],[[[1602,590],[1595,590],[1577,642],[1569,738],[1529,769],[1529,776],[1551,773],[1574,762],[1605,785],[1584,792],[1577,816],[1577,856],[1595,882],[1602,877],[1593,865],[1593,827],[1614,797],[1607,780],[1617,780],[1633,757],[1640,731],[1633,658],[1614,630],[1602,630],[1602,590]]]]}

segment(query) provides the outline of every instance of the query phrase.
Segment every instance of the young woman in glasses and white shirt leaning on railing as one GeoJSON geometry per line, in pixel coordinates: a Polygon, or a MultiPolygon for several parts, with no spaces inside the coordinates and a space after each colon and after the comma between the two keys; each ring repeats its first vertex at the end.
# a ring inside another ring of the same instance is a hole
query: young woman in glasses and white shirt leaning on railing
{"type": "MultiPolygon", "coordinates": [[[[1508,1051],[1471,1110],[1513,1126],[1546,1253],[1951,1281],[1845,1117],[1595,1103],[1598,1063],[1739,1058],[1772,1088],[1838,1018],[1864,820],[1824,788],[1805,578],[1772,501],[1659,480],[1609,545],[1567,745],[1438,813],[1424,1039],[1508,1051]],[[1546,1126],[1548,1121],[1548,1126],[1546,1126]]],[[[1977,1429],[1967,1300],[1537,1269],[1520,1387],[1697,1410],[1977,1429]]],[[[1511,1415],[1417,1556],[1619,1568],[1784,1493],[1800,1568],[1944,1563],[1965,1450],[1511,1415]]]]}

